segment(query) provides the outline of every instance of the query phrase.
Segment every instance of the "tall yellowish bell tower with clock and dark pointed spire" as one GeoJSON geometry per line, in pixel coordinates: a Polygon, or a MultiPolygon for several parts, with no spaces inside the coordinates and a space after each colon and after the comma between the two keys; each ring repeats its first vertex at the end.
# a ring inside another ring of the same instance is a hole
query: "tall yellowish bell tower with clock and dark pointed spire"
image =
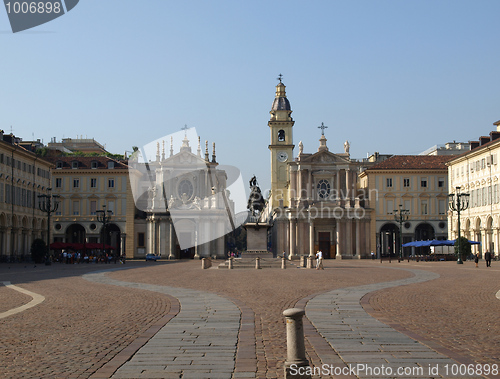
{"type": "Polygon", "coordinates": [[[293,159],[293,135],[292,128],[295,123],[291,117],[292,108],[286,98],[285,85],[282,75],[278,77],[276,86],[276,97],[273,101],[271,120],[268,125],[271,131],[271,207],[279,206],[283,199],[283,206],[290,206],[288,193],[288,162],[293,159]]]}

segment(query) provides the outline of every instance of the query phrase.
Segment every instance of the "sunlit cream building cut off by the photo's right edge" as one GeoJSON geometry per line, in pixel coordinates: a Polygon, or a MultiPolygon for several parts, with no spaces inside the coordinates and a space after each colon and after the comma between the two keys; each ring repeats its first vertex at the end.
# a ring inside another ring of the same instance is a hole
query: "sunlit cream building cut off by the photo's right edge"
{"type": "MultiPolygon", "coordinates": [[[[496,130],[477,141],[471,150],[448,162],[448,181],[452,193],[468,193],[468,208],[460,213],[461,235],[481,242],[473,245],[473,253],[490,251],[498,255],[500,244],[500,121],[496,130]]],[[[448,214],[448,233],[458,237],[457,212],[448,214]]]]}

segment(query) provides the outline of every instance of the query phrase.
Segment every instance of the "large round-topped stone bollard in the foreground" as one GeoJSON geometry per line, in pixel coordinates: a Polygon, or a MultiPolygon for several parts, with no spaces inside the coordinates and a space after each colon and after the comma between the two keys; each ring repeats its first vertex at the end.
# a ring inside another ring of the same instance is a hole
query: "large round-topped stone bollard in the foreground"
{"type": "Polygon", "coordinates": [[[285,379],[310,379],[311,375],[306,375],[306,368],[309,361],[306,358],[306,348],[304,344],[304,324],[302,317],[306,312],[300,308],[290,308],[283,312],[286,319],[286,360],[285,379]],[[303,367],[302,369],[300,369],[303,367]]]}

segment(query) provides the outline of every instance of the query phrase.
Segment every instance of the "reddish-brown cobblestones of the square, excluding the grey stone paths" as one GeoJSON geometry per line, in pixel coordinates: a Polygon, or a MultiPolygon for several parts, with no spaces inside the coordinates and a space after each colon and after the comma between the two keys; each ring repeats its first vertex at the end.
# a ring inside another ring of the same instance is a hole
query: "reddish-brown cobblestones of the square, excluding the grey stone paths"
{"type": "MultiPolygon", "coordinates": [[[[175,299],[169,296],[81,278],[91,270],[114,265],[67,266],[12,265],[9,270],[0,265],[0,281],[11,281],[46,297],[36,308],[0,321],[0,377],[89,377],[97,375],[99,369],[106,372],[106,367],[113,366],[113,358],[130,358],[152,337],[145,338],[152,326],[161,325],[164,315],[172,313],[170,307],[175,305],[175,299]],[[142,342],[137,349],[129,349],[138,341],[142,342]]],[[[258,378],[281,378],[286,357],[284,309],[296,304],[305,306],[308,299],[334,289],[412,276],[394,268],[424,269],[440,277],[369,293],[362,299],[365,309],[459,362],[498,364],[500,301],[495,293],[500,283],[495,262],[488,271],[486,267],[475,269],[469,262],[457,266],[452,262],[326,261],[324,271],[201,270],[199,261],[134,262],[120,266],[126,270],[107,276],[212,292],[231,300],[240,309],[243,321],[236,373],[248,372],[248,367],[254,365],[258,378]]],[[[4,296],[14,306],[27,300],[10,294],[0,286],[2,303],[4,296]]],[[[319,367],[322,363],[342,363],[309,321],[304,319],[304,323],[311,364],[319,367]]]]}

